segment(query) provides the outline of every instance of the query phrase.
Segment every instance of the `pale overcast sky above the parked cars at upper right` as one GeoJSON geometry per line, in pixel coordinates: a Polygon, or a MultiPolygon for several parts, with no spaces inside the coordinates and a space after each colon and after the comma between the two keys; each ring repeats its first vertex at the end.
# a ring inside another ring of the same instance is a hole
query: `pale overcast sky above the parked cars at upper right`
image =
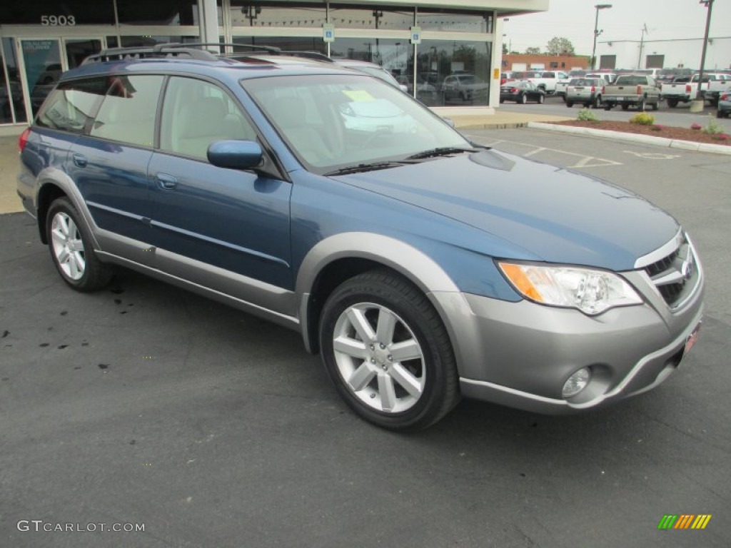
{"type": "MultiPolygon", "coordinates": [[[[553,37],[568,38],[577,55],[591,56],[596,4],[612,4],[599,10],[599,42],[640,40],[647,25],[646,40],[702,38],[708,9],[698,0],[549,0],[548,12],[516,15],[504,22],[506,44],[523,53],[540,47],[553,37]]],[[[731,0],[715,0],[710,37],[731,37],[731,0]]]]}

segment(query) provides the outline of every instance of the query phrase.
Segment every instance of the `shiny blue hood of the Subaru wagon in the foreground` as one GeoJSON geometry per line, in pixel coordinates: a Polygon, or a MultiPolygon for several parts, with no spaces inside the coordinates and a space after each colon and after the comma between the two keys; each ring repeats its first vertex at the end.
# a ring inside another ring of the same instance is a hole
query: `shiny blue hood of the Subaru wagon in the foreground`
{"type": "Polygon", "coordinates": [[[510,259],[631,270],[678,232],[637,194],[489,150],[336,179],[480,229],[510,243],[510,259]]]}

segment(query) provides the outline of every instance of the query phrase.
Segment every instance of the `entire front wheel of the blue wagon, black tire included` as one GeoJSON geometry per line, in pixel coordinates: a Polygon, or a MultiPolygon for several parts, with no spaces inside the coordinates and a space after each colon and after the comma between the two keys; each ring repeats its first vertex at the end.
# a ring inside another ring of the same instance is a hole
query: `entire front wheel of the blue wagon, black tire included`
{"type": "Polygon", "coordinates": [[[454,352],[439,314],[420,289],[388,270],[371,270],[338,286],[322,310],[319,339],[338,393],[375,425],[421,430],[460,399],[454,352]],[[368,325],[370,335],[358,335],[354,317],[368,325]],[[379,334],[379,326],[389,323],[379,334]],[[336,338],[345,340],[338,349],[336,338]],[[393,359],[397,343],[412,357],[393,359]]]}

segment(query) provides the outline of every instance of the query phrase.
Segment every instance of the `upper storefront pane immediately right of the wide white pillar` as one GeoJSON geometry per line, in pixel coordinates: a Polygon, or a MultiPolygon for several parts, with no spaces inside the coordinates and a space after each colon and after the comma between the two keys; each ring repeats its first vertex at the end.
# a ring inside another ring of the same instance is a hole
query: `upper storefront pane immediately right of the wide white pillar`
{"type": "Polygon", "coordinates": [[[325,3],[287,2],[285,6],[262,6],[261,2],[231,0],[231,26],[256,27],[322,27],[325,24],[325,3]]]}

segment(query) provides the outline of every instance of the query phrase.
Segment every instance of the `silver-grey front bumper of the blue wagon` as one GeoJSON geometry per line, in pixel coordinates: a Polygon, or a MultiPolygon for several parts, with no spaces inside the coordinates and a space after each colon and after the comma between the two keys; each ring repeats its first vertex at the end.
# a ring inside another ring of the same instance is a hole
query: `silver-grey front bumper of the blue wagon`
{"type": "MultiPolygon", "coordinates": [[[[632,280],[637,286],[639,279],[632,280]]],[[[447,317],[463,396],[545,414],[594,408],[653,389],[680,365],[702,317],[702,280],[681,310],[662,298],[586,316],[529,301],[436,293],[447,317]],[[564,399],[572,373],[591,370],[586,389],[564,399]]]]}

